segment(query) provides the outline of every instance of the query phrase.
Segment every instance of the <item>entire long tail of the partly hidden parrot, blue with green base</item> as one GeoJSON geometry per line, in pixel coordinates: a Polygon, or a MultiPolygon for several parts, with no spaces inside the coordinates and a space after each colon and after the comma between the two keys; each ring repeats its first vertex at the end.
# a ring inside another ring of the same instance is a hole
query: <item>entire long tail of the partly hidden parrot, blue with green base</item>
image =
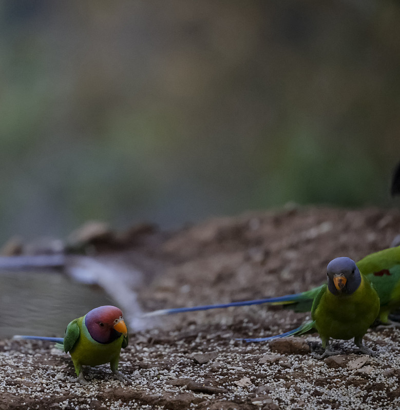
{"type": "Polygon", "coordinates": [[[158,311],[147,312],[142,317],[160,316],[160,315],[173,315],[175,313],[183,312],[196,312],[206,311],[209,309],[224,309],[231,308],[232,306],[250,306],[253,304],[269,304],[269,305],[285,305],[290,309],[294,309],[296,312],[308,312],[311,310],[314,296],[317,294],[319,288],[311,289],[307,292],[296,293],[294,295],[285,295],[275,298],[245,300],[241,302],[221,303],[221,304],[208,304],[204,306],[193,306],[192,308],[173,308],[173,309],[160,309],[158,311]]]}

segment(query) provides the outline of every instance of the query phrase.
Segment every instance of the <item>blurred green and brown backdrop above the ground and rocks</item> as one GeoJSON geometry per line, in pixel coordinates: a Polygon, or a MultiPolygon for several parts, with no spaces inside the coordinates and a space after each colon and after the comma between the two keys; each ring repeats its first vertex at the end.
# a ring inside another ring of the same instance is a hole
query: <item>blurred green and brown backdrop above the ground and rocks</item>
{"type": "Polygon", "coordinates": [[[395,1],[0,2],[0,240],[390,206],[395,1]]]}

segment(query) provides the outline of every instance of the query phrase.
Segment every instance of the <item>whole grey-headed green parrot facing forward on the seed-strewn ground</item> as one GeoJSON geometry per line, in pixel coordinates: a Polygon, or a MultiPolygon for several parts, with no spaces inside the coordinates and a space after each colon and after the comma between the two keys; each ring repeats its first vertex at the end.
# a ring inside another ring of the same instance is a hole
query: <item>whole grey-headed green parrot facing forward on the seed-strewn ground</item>
{"type": "Polygon", "coordinates": [[[297,329],[247,342],[261,342],[275,338],[300,335],[317,331],[325,349],[322,357],[337,355],[331,350],[329,339],[352,339],[360,351],[371,355],[373,352],[363,345],[363,337],[368,327],[379,313],[379,297],[370,281],[360,274],[355,262],[346,257],[333,259],[327,267],[328,283],[320,286],[314,297],[311,318],[297,329]]]}

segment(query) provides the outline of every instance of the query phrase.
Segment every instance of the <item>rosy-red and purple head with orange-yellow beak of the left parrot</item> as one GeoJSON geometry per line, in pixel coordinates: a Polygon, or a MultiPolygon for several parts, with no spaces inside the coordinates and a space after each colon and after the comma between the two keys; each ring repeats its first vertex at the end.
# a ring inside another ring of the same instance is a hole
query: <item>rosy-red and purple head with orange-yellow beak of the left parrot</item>
{"type": "Polygon", "coordinates": [[[90,336],[99,343],[110,343],[121,334],[128,335],[122,311],[115,306],[100,306],[91,310],[86,314],[85,325],[90,336]]]}

